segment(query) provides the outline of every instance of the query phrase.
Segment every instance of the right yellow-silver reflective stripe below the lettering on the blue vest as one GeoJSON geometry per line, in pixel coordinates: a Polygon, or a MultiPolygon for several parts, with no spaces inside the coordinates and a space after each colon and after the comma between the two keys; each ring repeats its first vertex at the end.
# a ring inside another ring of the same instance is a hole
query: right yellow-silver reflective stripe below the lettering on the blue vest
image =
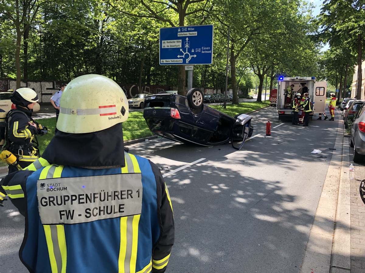
{"type": "Polygon", "coordinates": [[[119,273],[135,273],[140,214],[120,218],[119,273]]]}

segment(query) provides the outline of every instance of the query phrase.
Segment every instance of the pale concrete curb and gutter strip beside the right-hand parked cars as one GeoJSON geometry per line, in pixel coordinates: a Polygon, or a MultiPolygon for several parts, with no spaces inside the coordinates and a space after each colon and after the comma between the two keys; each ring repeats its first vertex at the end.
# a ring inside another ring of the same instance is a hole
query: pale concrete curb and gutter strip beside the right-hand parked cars
{"type": "MultiPolygon", "coordinates": [[[[338,122],[340,121],[338,120],[338,122]]],[[[342,165],[346,163],[341,163],[344,153],[343,147],[345,146],[343,143],[343,129],[339,128],[339,124],[337,126],[338,130],[334,145],[337,150],[333,150],[330,165],[328,166],[300,273],[340,273],[344,272],[338,271],[340,269],[347,271],[345,266],[348,266],[350,262],[350,237],[348,236],[350,215],[346,214],[349,212],[350,206],[350,189],[349,186],[345,187],[345,183],[339,181],[343,168],[345,168],[342,165]],[[344,217],[343,214],[347,217],[344,217]],[[337,230],[334,227],[336,219],[338,219],[337,230]],[[343,221],[339,222],[339,219],[343,219],[343,221]],[[344,250],[344,248],[346,249],[344,250]]],[[[343,179],[345,182],[345,176],[343,176],[343,179]]]]}

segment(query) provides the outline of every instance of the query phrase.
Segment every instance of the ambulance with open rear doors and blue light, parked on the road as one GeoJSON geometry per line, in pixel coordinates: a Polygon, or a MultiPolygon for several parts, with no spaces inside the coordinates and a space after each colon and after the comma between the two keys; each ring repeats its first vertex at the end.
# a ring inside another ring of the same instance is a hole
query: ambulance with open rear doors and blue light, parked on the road
{"type": "MultiPolygon", "coordinates": [[[[310,120],[314,114],[324,113],[326,106],[326,91],[327,82],[317,82],[316,77],[293,77],[284,78],[279,77],[277,85],[277,112],[279,120],[292,120],[293,111],[291,108],[291,101],[299,92],[303,97],[303,89],[301,83],[305,83],[308,87],[308,94],[312,102],[312,112],[310,113],[310,120]],[[288,86],[294,85],[292,94],[289,95],[286,91],[288,86]],[[290,103],[289,103],[290,101],[290,103]]],[[[301,114],[301,112],[299,112],[301,114]]]]}

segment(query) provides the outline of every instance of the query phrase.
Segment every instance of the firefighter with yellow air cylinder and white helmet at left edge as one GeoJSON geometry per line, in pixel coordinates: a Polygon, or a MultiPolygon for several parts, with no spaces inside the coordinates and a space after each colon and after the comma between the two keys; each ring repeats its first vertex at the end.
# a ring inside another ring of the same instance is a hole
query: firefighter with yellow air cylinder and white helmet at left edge
{"type": "Polygon", "coordinates": [[[9,164],[9,173],[27,167],[39,157],[36,135],[43,135],[47,128],[32,119],[33,107],[38,102],[37,93],[27,87],[17,89],[10,100],[16,109],[6,115],[0,113],[3,151],[0,158],[9,164]]]}

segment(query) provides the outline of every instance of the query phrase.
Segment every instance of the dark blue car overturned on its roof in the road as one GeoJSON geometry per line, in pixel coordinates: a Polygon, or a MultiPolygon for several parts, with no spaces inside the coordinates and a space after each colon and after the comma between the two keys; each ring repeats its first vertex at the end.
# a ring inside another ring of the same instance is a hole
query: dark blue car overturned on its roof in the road
{"type": "Polygon", "coordinates": [[[143,117],[150,130],[161,137],[184,143],[216,146],[232,143],[240,150],[251,137],[252,117],[234,118],[203,104],[203,92],[191,89],[187,96],[161,92],[147,96],[143,117]]]}

